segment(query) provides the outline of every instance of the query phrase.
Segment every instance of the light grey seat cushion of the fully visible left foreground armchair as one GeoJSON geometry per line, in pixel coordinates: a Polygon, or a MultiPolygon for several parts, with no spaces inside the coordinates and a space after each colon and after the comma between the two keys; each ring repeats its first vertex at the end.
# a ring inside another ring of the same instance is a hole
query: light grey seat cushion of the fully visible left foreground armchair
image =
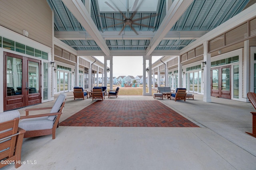
{"type": "Polygon", "coordinates": [[[50,121],[46,117],[36,117],[29,119],[21,119],[19,127],[26,131],[52,129],[54,121],[50,121]]]}

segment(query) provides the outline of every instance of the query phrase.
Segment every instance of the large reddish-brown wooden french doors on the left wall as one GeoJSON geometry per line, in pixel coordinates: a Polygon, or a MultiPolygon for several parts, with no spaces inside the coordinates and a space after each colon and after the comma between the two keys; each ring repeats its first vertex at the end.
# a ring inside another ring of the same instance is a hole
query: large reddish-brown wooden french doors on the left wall
{"type": "Polygon", "coordinates": [[[41,61],[4,52],[4,111],[41,103],[41,61]]]}

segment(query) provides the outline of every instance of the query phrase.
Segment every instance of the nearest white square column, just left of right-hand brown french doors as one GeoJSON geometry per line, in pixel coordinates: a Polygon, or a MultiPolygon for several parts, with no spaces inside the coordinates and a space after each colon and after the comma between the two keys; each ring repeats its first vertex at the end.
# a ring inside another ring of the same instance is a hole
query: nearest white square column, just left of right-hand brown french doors
{"type": "Polygon", "coordinates": [[[204,62],[206,62],[203,72],[204,81],[204,102],[212,102],[211,99],[211,54],[207,53],[207,41],[204,42],[204,62]]]}

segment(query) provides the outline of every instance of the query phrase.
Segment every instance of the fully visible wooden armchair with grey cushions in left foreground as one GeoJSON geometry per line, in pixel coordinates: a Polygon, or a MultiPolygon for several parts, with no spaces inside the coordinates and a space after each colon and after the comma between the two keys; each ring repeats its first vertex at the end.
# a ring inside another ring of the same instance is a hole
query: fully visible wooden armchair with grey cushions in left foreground
{"type": "Polygon", "coordinates": [[[51,135],[55,139],[56,128],[66,102],[66,93],[61,93],[52,107],[25,109],[26,116],[20,117],[19,127],[26,130],[24,138],[51,135]],[[28,115],[29,111],[51,109],[50,113],[28,115]]]}

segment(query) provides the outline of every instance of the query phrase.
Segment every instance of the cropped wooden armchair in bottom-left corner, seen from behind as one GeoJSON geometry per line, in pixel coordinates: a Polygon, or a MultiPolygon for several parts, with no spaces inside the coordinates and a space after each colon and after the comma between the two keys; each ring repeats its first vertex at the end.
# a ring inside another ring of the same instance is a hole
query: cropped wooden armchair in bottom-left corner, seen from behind
{"type": "Polygon", "coordinates": [[[21,147],[25,130],[18,127],[20,113],[18,110],[0,113],[0,168],[15,164],[21,166],[21,147]]]}

